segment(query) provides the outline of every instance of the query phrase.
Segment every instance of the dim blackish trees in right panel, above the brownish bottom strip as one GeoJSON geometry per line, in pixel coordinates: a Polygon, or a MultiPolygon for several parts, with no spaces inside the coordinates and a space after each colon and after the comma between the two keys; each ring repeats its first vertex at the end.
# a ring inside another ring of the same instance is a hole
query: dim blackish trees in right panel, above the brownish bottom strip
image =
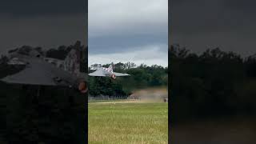
{"type": "Polygon", "coordinates": [[[256,55],[242,58],[219,48],[195,54],[169,47],[173,122],[256,114],[256,55]]]}

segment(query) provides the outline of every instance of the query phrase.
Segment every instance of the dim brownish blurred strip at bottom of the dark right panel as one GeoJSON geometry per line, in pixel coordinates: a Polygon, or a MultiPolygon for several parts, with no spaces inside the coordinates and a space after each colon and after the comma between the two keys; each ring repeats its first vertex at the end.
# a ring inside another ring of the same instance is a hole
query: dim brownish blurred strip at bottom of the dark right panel
{"type": "Polygon", "coordinates": [[[223,118],[187,122],[172,128],[170,143],[253,144],[256,142],[255,120],[255,118],[223,118]]]}

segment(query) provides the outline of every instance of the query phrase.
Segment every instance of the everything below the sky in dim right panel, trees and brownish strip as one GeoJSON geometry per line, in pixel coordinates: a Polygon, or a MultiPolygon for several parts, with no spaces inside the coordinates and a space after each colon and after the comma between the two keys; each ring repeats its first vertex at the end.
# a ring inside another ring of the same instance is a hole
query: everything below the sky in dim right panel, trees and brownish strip
{"type": "Polygon", "coordinates": [[[177,45],[169,67],[170,142],[255,142],[256,55],[177,45]]]}

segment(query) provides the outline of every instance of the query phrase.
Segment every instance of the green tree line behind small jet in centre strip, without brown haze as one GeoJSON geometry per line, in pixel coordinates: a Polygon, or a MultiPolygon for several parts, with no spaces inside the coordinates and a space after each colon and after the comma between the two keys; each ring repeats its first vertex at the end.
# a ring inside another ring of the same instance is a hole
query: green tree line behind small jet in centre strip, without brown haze
{"type": "MultiPolygon", "coordinates": [[[[95,64],[96,65],[96,64],[95,64]]],[[[133,90],[154,86],[167,86],[168,68],[158,65],[147,66],[141,64],[136,66],[134,62],[118,62],[103,65],[103,67],[114,66],[114,71],[130,74],[129,77],[89,77],[89,94],[93,97],[101,95],[127,98],[133,90]]],[[[89,73],[93,72],[90,70],[89,73]]]]}

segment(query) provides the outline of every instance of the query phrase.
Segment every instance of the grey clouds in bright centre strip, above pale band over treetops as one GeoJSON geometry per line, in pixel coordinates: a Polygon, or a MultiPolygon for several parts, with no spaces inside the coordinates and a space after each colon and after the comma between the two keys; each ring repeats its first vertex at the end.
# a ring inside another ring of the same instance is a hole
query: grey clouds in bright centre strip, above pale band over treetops
{"type": "Polygon", "coordinates": [[[135,53],[145,46],[161,46],[162,51],[167,50],[167,2],[90,1],[89,54],[135,53]]]}

